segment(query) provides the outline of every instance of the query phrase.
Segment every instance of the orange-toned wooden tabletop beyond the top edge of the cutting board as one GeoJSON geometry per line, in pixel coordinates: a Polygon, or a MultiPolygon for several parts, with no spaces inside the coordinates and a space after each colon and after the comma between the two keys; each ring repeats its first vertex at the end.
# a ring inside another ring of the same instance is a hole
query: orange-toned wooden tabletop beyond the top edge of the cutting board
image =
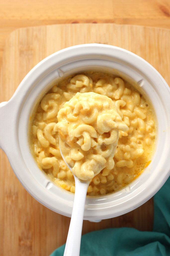
{"type": "Polygon", "coordinates": [[[5,40],[21,27],[115,23],[170,28],[169,0],[0,0],[0,65],[5,40]]]}

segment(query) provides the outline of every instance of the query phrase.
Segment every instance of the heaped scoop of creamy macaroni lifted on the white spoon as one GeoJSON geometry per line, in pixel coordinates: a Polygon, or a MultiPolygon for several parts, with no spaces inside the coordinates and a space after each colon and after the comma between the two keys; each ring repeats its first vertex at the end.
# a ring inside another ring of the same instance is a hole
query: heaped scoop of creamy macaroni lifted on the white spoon
{"type": "Polygon", "coordinates": [[[103,168],[114,167],[119,130],[127,131],[114,102],[95,92],[77,92],[57,115],[54,131],[72,172],[81,180],[91,180],[103,168]]]}

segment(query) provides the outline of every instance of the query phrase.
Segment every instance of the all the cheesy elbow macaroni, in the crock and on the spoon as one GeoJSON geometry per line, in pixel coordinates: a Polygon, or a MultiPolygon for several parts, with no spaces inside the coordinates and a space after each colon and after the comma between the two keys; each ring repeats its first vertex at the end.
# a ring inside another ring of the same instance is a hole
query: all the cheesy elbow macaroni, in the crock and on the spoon
{"type": "Polygon", "coordinates": [[[70,153],[66,161],[74,166],[78,177],[91,180],[87,195],[104,195],[129,184],[150,161],[155,120],[149,102],[121,78],[89,72],[53,86],[34,112],[31,147],[36,162],[48,177],[74,193],[73,174],[60,155],[59,132],[67,138],[64,149],[70,153]],[[82,100],[82,93],[97,93],[97,98],[82,100]],[[103,101],[103,95],[110,99],[103,101]],[[110,104],[117,108],[118,126],[114,114],[108,111],[110,104]],[[119,140],[115,149],[116,129],[119,140]]]}

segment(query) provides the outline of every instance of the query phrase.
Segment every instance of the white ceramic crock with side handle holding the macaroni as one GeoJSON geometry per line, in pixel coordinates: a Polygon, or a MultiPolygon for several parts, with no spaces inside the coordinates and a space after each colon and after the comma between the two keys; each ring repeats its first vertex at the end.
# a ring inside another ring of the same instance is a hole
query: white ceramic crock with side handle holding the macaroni
{"type": "Polygon", "coordinates": [[[148,62],[127,50],[101,44],[77,45],[50,55],[27,74],[8,102],[0,104],[0,146],[17,178],[36,200],[71,216],[74,195],[48,180],[33,159],[29,120],[35,105],[54,81],[85,70],[117,70],[120,76],[137,81],[150,98],[158,121],[155,152],[145,171],[116,193],[86,198],[84,219],[107,219],[145,203],[169,176],[170,89],[148,62]]]}

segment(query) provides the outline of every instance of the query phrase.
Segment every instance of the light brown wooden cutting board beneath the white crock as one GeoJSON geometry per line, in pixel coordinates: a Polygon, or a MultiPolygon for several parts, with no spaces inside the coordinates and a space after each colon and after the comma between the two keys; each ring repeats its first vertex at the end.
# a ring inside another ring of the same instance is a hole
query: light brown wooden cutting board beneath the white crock
{"type": "MultiPolygon", "coordinates": [[[[39,61],[65,47],[102,43],[125,48],[147,60],[170,84],[170,30],[115,24],[67,24],[22,28],[6,41],[0,102],[8,101],[39,61]]],[[[1,123],[1,125],[3,125],[1,123]]],[[[10,145],[9,145],[10,147],[10,145]]],[[[66,242],[70,218],[37,202],[22,187],[0,150],[0,255],[44,256],[66,242]]],[[[152,230],[153,199],[123,216],[83,222],[85,234],[112,227],[152,230]]]]}

